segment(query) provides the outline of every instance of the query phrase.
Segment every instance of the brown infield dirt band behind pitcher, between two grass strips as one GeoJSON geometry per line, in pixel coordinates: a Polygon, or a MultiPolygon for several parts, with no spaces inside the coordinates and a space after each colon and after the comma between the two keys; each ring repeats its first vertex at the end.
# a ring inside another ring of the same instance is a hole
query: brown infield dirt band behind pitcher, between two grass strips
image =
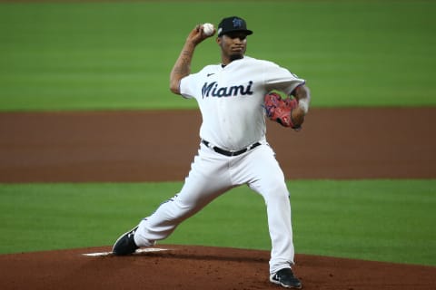
{"type": "MultiPolygon", "coordinates": [[[[183,180],[198,111],[0,114],[0,182],[183,180]]],[[[286,179],[434,179],[436,108],[313,109],[303,130],[267,122],[286,179]]]]}

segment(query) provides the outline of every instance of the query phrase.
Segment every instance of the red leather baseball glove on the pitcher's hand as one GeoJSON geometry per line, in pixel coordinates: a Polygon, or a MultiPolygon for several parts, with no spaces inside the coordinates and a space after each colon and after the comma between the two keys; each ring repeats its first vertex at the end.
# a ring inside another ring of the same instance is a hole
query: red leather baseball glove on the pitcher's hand
{"type": "Polygon", "coordinates": [[[265,94],[263,101],[266,115],[271,121],[276,121],[283,127],[291,127],[294,130],[301,128],[292,121],[292,110],[298,106],[296,99],[291,99],[289,96],[282,99],[279,92],[272,91],[265,94]]]}

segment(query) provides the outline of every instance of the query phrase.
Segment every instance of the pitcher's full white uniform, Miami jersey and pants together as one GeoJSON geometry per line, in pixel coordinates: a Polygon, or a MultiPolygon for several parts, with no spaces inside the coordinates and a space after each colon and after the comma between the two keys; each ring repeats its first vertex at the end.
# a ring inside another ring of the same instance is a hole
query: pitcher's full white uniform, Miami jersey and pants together
{"type": "Polygon", "coordinates": [[[289,94],[303,83],[277,64],[249,56],[226,66],[207,65],[184,77],[180,92],[195,98],[202,112],[202,142],[183,188],[141,221],[134,235],[136,245],[154,245],[214,198],[246,184],[266,204],[272,239],[270,272],[290,267],[294,249],[289,192],[265,139],[263,97],[272,89],[289,94]],[[239,150],[245,151],[232,156],[239,150]]]}

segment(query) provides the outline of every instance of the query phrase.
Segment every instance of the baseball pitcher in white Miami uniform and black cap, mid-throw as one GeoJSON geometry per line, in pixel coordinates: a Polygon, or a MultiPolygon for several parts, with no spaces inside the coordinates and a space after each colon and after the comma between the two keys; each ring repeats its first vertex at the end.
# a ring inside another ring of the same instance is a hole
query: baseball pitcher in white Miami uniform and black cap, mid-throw
{"type": "Polygon", "coordinates": [[[247,29],[243,18],[223,18],[217,30],[204,27],[199,24],[188,34],[170,74],[171,91],[198,102],[203,116],[200,149],[180,192],[119,237],[114,255],[154,246],[214,198],[247,185],[266,205],[272,241],[270,281],[302,288],[292,272],[289,191],[265,138],[265,119],[277,121],[288,133],[300,130],[309,110],[309,89],[304,80],[276,63],[245,55],[247,36],[253,31],[247,29]],[[191,73],[194,50],[213,34],[217,34],[221,63],[191,73]]]}

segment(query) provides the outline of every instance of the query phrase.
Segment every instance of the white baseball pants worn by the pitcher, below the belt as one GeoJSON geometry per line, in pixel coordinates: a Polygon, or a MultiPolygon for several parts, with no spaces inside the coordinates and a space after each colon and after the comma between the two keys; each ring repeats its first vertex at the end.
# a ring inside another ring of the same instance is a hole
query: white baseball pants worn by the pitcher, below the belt
{"type": "Polygon", "coordinates": [[[139,247],[153,246],[175,227],[224,192],[247,184],[263,196],[272,240],[270,272],[293,265],[291,204],[284,175],[272,148],[261,146],[227,157],[200,145],[182,190],[144,218],[134,235],[139,247]]]}

